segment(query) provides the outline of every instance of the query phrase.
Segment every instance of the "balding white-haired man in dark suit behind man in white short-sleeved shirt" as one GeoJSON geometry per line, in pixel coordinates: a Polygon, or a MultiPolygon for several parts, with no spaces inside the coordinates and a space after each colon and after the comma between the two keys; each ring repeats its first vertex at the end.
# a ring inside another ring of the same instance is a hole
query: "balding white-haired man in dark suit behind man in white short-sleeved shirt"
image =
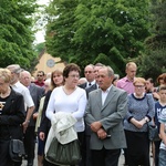
{"type": "Polygon", "coordinates": [[[44,95],[44,89],[35,85],[34,83],[31,83],[31,74],[28,71],[23,71],[20,73],[20,82],[29,89],[35,106],[33,114],[30,118],[29,126],[24,134],[24,147],[25,153],[28,155],[28,166],[32,166],[35,148],[34,129],[35,129],[37,112],[39,110],[40,100],[44,95]]]}

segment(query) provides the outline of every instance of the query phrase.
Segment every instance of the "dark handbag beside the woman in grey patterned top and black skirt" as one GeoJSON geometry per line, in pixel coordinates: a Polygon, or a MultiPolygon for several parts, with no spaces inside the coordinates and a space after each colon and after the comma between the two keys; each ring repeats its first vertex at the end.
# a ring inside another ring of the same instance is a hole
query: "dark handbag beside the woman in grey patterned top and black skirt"
{"type": "Polygon", "coordinates": [[[159,132],[158,132],[158,127],[156,125],[149,125],[148,124],[148,138],[152,142],[156,142],[159,141],[159,132]]]}

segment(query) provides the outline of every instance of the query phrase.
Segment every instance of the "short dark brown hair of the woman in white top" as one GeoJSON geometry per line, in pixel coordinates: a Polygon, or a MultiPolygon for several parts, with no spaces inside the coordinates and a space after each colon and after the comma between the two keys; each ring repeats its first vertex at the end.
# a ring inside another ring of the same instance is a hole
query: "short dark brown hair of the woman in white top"
{"type": "Polygon", "coordinates": [[[80,69],[80,66],[79,66],[77,64],[75,64],[75,63],[70,63],[70,64],[68,64],[68,65],[64,68],[64,70],[63,70],[63,76],[64,76],[64,77],[68,77],[68,76],[69,76],[69,73],[70,73],[71,71],[76,71],[76,72],[79,72],[79,74],[81,73],[81,69],[80,69]]]}

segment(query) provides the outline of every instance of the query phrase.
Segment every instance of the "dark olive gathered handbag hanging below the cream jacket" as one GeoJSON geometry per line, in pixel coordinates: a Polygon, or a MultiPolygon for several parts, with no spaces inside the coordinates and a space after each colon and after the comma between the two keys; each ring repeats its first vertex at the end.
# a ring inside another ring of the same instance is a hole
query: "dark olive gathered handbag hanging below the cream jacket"
{"type": "Polygon", "coordinates": [[[58,165],[76,165],[81,160],[80,143],[77,139],[61,144],[55,137],[52,139],[45,159],[58,165]]]}

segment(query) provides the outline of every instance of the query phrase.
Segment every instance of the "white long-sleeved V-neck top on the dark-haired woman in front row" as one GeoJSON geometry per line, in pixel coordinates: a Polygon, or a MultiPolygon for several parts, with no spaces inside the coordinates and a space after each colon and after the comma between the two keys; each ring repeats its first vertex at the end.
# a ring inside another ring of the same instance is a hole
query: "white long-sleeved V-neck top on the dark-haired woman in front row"
{"type": "Polygon", "coordinates": [[[76,87],[70,95],[65,94],[63,86],[56,87],[51,93],[46,107],[46,117],[52,118],[52,115],[58,112],[71,113],[77,120],[74,127],[76,132],[84,131],[84,112],[86,106],[85,90],[76,87]]]}

